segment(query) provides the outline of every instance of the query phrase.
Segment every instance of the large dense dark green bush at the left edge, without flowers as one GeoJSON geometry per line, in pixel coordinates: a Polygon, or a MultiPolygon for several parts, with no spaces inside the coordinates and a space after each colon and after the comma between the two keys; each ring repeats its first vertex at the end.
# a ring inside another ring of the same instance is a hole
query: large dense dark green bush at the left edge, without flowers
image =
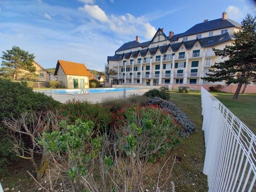
{"type": "MultiPolygon", "coordinates": [[[[7,134],[7,127],[2,125],[4,118],[18,118],[22,113],[30,110],[46,111],[58,107],[60,103],[43,93],[36,93],[27,86],[26,82],[13,83],[0,79],[0,159],[13,160],[11,153],[11,138],[7,134]]],[[[4,166],[2,161],[2,166],[4,166]]],[[[1,167],[0,167],[1,169],[1,167]]]]}

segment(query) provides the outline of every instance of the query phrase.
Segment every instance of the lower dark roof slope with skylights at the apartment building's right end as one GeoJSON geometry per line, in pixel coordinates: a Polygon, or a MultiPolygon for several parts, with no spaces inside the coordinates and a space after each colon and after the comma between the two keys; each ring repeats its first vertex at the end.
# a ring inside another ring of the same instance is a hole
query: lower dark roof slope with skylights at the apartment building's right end
{"type": "Polygon", "coordinates": [[[213,46],[225,41],[229,41],[231,38],[233,37],[231,37],[228,33],[225,33],[217,36],[201,38],[201,39],[198,39],[198,42],[202,47],[207,47],[207,46],[213,46]]]}

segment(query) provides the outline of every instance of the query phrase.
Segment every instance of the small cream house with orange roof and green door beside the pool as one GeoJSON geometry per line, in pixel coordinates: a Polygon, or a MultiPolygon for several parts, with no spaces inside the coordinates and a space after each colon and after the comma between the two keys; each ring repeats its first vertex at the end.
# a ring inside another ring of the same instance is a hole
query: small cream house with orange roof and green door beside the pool
{"type": "Polygon", "coordinates": [[[58,60],[54,75],[63,87],[68,89],[88,89],[93,76],[83,63],[58,60]]]}

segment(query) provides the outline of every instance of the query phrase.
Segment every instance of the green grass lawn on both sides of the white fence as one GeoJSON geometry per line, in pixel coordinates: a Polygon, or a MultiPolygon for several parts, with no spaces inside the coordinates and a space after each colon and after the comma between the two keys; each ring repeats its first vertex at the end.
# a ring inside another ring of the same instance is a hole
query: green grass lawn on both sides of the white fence
{"type": "MultiPolygon", "coordinates": [[[[255,111],[256,94],[240,94],[238,100],[233,100],[233,93],[212,92],[230,111],[245,125],[256,132],[255,111]]],[[[207,178],[203,174],[205,144],[202,131],[201,93],[179,93],[170,91],[170,101],[185,112],[196,124],[196,132],[191,134],[180,146],[173,150],[181,161],[175,163],[173,182],[176,191],[207,191],[207,178]]]]}

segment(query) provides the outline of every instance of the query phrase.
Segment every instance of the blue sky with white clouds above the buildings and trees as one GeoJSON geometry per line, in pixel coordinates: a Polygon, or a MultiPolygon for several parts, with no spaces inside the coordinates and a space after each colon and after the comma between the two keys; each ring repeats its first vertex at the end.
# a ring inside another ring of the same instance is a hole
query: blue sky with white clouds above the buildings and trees
{"type": "MultiPolygon", "coordinates": [[[[44,68],[57,60],[103,71],[123,43],[151,40],[158,28],[185,32],[205,19],[241,23],[256,13],[252,0],[0,0],[0,55],[17,45],[44,68]]],[[[0,62],[2,60],[0,59],[0,62]]]]}

